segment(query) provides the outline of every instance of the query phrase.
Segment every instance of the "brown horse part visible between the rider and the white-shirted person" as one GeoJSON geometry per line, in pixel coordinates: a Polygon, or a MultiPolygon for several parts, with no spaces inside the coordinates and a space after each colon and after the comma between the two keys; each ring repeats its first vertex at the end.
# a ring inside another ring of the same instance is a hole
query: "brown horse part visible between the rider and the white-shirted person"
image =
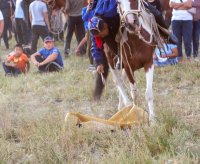
{"type": "Polygon", "coordinates": [[[165,16],[165,23],[169,27],[172,18],[172,9],[169,6],[169,0],[160,0],[160,4],[161,4],[161,11],[165,16]]]}

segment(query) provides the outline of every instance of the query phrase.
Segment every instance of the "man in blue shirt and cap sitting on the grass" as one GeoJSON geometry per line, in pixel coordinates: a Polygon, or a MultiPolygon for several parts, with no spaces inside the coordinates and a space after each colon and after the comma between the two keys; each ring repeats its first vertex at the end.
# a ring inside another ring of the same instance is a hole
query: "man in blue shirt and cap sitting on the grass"
{"type": "Polygon", "coordinates": [[[54,39],[50,36],[44,39],[44,48],[31,55],[31,61],[41,72],[54,72],[63,69],[61,53],[54,47],[54,39]]]}

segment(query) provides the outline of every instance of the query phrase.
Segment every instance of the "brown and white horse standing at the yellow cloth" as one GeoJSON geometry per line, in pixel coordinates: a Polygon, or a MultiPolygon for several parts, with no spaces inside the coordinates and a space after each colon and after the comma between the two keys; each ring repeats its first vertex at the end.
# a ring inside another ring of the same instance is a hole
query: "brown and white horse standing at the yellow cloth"
{"type": "MultiPolygon", "coordinates": [[[[53,0],[53,1],[55,2],[53,8],[56,7],[60,8],[60,6],[62,7],[65,6],[63,3],[61,3],[61,1],[63,2],[63,0],[53,0]]],[[[139,22],[138,15],[140,15],[141,12],[138,10],[138,2],[142,0],[116,0],[116,1],[118,2],[118,7],[119,10],[121,11],[121,16],[120,16],[121,21],[123,22],[123,24],[125,24],[125,26],[120,27],[121,31],[120,49],[121,49],[122,62],[124,64],[124,70],[130,82],[131,96],[132,99],[134,100],[136,94],[134,72],[140,68],[144,68],[146,73],[145,96],[148,102],[149,118],[150,120],[152,120],[155,117],[154,105],[153,105],[153,89],[152,89],[153,73],[154,73],[152,55],[155,49],[155,44],[153,43],[153,40],[151,40],[151,42],[148,43],[144,41],[144,40],[149,40],[151,36],[143,28],[140,29],[140,33],[142,33],[143,39],[141,39],[141,36],[137,35],[137,32],[134,32],[135,29],[138,29],[136,22],[139,22]],[[126,39],[123,39],[124,33],[126,33],[126,39]]],[[[107,46],[105,45],[105,47],[107,46]]],[[[113,59],[115,58],[115,55],[112,53],[111,50],[109,50],[108,47],[105,48],[105,53],[109,65],[112,68],[111,72],[114,75],[114,79],[120,93],[120,99],[123,100],[124,105],[129,105],[130,101],[123,88],[121,78],[117,70],[114,69],[113,59]]],[[[119,106],[121,106],[121,104],[119,106]]]]}

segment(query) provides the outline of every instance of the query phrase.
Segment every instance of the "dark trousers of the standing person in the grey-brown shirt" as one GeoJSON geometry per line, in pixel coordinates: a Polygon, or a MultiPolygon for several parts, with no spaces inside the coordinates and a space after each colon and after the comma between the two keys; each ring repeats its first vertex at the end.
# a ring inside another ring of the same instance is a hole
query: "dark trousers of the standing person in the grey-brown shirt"
{"type": "MultiPolygon", "coordinates": [[[[83,37],[85,36],[85,29],[82,21],[81,16],[69,16],[67,20],[67,35],[65,40],[65,46],[64,46],[64,53],[68,54],[70,50],[70,44],[72,40],[73,33],[75,32],[76,40],[78,42],[77,45],[81,42],[83,37]]],[[[81,49],[81,53],[84,51],[81,49]]]]}

